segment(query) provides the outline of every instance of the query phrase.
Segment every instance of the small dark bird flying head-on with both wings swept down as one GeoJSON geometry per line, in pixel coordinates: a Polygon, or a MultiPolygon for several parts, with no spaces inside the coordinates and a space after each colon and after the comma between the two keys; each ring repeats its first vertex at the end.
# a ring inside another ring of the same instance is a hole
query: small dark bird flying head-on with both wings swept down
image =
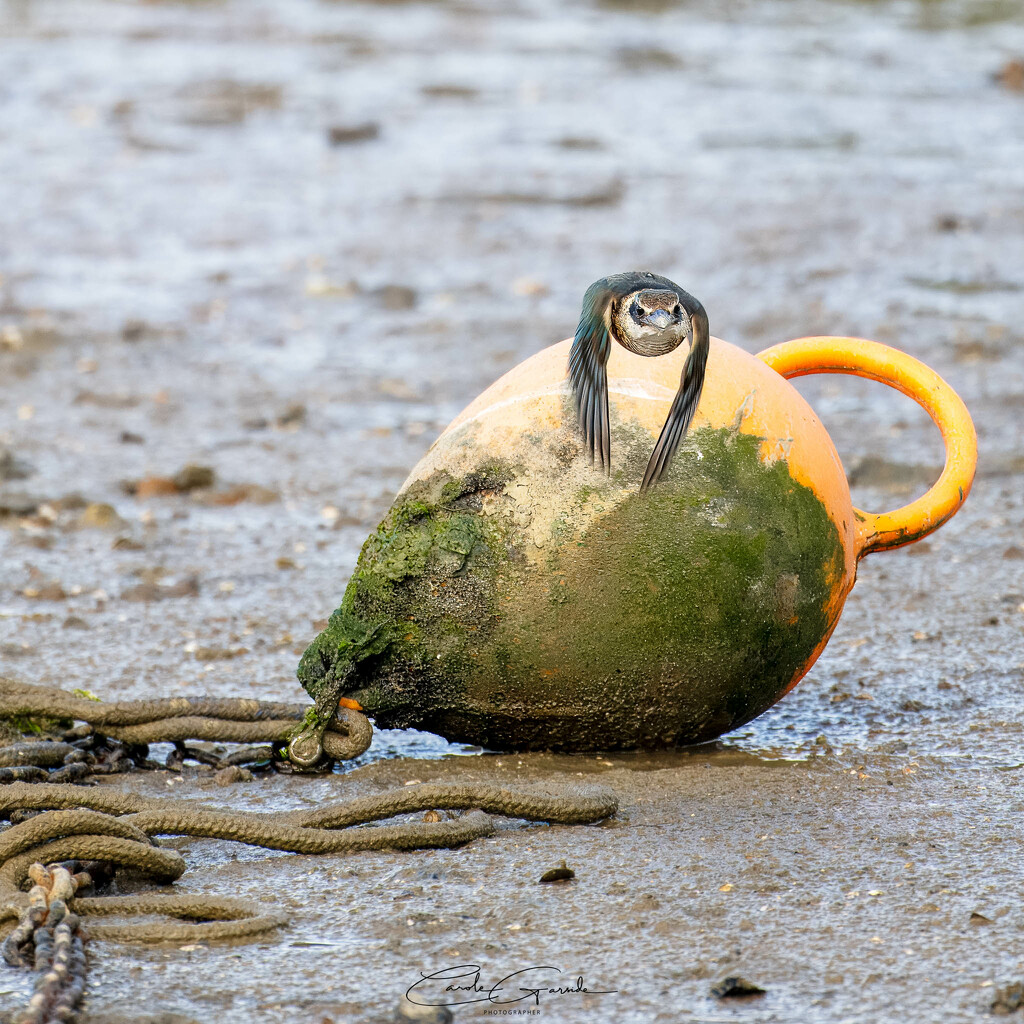
{"type": "Polygon", "coordinates": [[[596,457],[605,474],[611,472],[606,372],[611,342],[638,355],[658,356],[683,340],[690,351],[641,492],[665,475],[696,412],[710,348],[708,313],[689,292],[649,270],[601,278],[584,294],[580,326],[569,349],[568,378],[591,465],[596,457]]]}

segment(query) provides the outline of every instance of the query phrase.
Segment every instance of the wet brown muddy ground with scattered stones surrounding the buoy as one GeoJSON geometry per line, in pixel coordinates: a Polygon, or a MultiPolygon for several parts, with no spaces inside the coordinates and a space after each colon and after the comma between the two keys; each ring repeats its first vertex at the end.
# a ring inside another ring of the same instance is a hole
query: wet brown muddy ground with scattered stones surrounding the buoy
{"type": "MultiPolygon", "coordinates": [[[[622,810],[443,853],[173,841],[180,888],[294,927],[96,943],[90,1021],[380,1022],[460,964],[606,990],[455,1008],[548,1024],[973,1021],[1024,980],[1024,93],[994,78],[1022,53],[1012,0],[0,2],[4,674],[300,697],[298,655],[432,437],[634,266],[752,351],[910,351],[982,451],[965,510],[869,557],[812,673],[719,745],[382,733],[327,778],[120,780],[273,809],[584,775],[622,810]],[[124,489],[188,463],[214,485],[124,489]],[[538,884],[563,858],[575,880],[538,884]],[[735,974],[766,994],[710,995],[735,974]]],[[[937,475],[908,400],[800,386],[858,504],[937,475]]],[[[27,991],[5,968],[0,1008],[27,991]]]]}

